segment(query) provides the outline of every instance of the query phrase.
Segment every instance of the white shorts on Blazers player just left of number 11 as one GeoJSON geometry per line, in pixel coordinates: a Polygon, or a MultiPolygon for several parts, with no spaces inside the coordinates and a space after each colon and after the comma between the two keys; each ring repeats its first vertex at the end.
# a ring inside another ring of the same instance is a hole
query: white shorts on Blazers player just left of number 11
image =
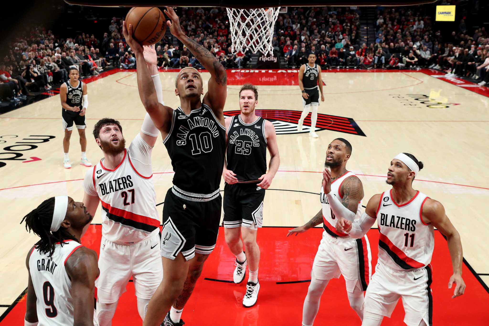
{"type": "Polygon", "coordinates": [[[312,264],[311,278],[331,280],[343,275],[350,293],[365,291],[372,276],[372,254],[367,236],[333,238],[326,231],[312,264]]]}

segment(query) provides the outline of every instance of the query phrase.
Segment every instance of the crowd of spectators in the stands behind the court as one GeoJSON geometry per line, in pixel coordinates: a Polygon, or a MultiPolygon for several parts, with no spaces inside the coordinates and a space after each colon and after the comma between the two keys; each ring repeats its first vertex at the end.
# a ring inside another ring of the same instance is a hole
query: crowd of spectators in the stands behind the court
{"type": "MultiPolygon", "coordinates": [[[[380,7],[375,22],[376,39],[363,42],[360,11],[351,7],[289,7],[278,16],[272,45],[291,68],[308,62],[328,67],[443,69],[448,77],[463,76],[489,83],[489,36],[485,28],[471,30],[464,20],[446,35],[433,30],[433,18],[422,7],[380,7]]],[[[178,8],[187,36],[203,45],[226,68],[241,68],[251,51],[232,53],[225,8],[178,8]]],[[[21,101],[31,92],[49,90],[68,80],[70,68],[80,77],[92,76],[112,66],[134,68],[136,60],[122,35],[122,19],[112,18],[100,39],[82,33],[58,38],[41,26],[26,29],[0,59],[0,98],[21,101]]],[[[158,67],[194,66],[199,61],[181,43],[163,38],[155,45],[158,67]]]]}

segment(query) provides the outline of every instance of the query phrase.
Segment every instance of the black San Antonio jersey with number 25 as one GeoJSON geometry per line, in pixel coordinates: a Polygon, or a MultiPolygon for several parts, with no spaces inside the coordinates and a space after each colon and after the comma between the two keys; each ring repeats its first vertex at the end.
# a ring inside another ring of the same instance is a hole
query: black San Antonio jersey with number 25
{"type": "Polygon", "coordinates": [[[227,168],[240,181],[257,180],[267,172],[267,138],[265,119],[250,124],[235,115],[227,130],[227,168]]]}

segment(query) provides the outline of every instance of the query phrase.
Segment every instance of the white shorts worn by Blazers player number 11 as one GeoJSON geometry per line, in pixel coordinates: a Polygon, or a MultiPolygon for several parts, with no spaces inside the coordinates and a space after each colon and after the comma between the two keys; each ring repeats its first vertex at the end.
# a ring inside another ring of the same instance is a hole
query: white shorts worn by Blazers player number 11
{"type": "Polygon", "coordinates": [[[405,312],[404,323],[407,326],[418,326],[422,320],[431,326],[431,280],[431,265],[410,271],[398,271],[378,262],[365,293],[364,309],[390,318],[401,298],[405,312]]]}

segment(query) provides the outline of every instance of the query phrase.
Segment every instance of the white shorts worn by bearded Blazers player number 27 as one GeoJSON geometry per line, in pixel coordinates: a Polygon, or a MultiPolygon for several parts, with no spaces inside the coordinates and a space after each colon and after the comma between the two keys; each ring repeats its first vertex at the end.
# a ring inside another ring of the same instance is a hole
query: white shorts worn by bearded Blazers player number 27
{"type": "Polygon", "coordinates": [[[163,279],[159,234],[154,232],[149,238],[129,245],[102,236],[98,268],[100,276],[95,286],[99,302],[111,304],[119,300],[131,277],[136,297],[151,299],[163,279]]]}

